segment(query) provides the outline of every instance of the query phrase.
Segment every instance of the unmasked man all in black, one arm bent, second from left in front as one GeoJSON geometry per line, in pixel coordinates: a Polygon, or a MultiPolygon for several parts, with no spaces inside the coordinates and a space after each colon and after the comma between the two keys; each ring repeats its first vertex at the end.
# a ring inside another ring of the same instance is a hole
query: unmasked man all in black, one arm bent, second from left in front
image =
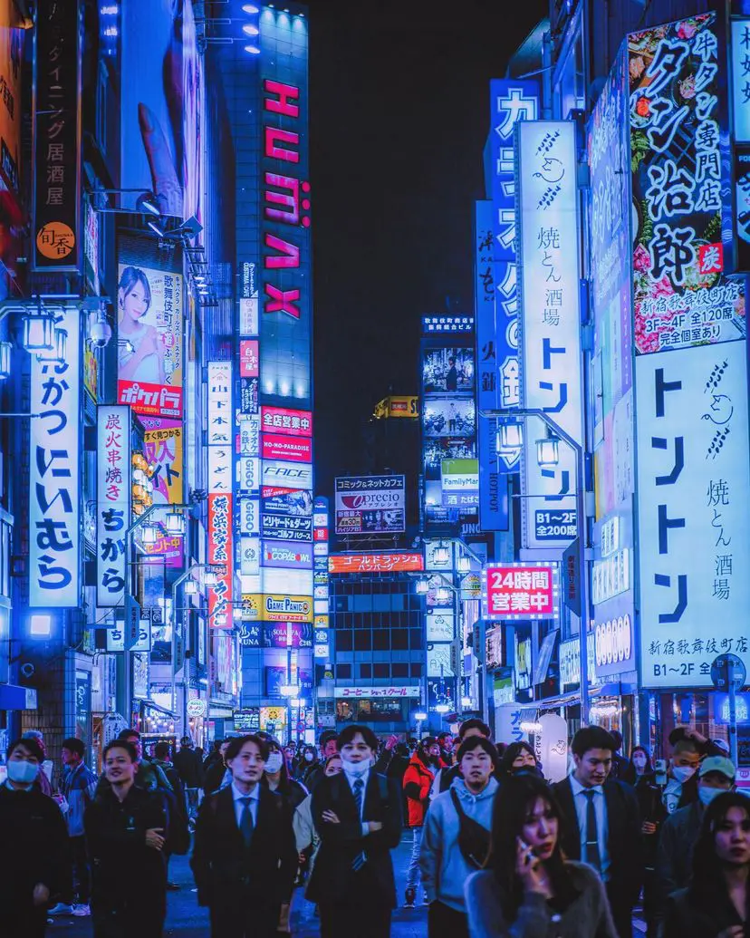
{"type": "Polygon", "coordinates": [[[127,739],[104,748],[108,784],[83,815],[91,861],[95,938],[161,938],[167,912],[170,812],[165,793],[135,780],[138,752],[127,739]]]}

